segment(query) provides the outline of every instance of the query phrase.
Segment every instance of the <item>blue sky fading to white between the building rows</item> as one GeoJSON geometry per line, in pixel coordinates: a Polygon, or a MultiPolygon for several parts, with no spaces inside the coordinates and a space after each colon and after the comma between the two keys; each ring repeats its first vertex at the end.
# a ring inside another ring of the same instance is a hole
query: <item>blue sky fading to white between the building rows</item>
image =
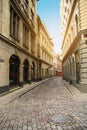
{"type": "Polygon", "coordinates": [[[37,14],[46,25],[55,52],[61,53],[60,0],[37,1],[37,14]]]}

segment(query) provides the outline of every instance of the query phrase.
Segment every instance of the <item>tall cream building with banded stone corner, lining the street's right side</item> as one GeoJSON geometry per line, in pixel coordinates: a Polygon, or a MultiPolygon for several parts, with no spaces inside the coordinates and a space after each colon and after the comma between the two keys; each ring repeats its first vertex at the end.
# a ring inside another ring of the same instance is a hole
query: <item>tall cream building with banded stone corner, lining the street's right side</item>
{"type": "Polygon", "coordinates": [[[87,0],[61,0],[63,78],[87,92],[87,0]]]}

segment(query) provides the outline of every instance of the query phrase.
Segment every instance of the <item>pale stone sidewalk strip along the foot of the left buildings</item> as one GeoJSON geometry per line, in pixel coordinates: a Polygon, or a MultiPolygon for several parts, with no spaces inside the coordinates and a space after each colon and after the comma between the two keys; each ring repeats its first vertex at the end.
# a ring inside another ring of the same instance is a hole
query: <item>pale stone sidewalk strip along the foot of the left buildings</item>
{"type": "Polygon", "coordinates": [[[15,99],[21,97],[22,95],[26,94],[28,91],[31,91],[32,89],[36,88],[38,85],[40,85],[43,82],[46,82],[48,80],[49,80],[49,78],[44,79],[44,80],[39,81],[39,82],[32,83],[32,84],[26,84],[23,86],[23,88],[20,88],[16,91],[13,91],[7,95],[0,97],[0,106],[6,105],[9,102],[14,101],[15,99]]]}

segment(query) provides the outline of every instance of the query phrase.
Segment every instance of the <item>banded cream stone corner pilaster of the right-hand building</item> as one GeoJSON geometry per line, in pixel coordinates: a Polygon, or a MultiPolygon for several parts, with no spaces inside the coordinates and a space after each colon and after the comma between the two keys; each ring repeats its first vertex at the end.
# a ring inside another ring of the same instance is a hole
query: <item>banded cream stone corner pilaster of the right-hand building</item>
{"type": "Polygon", "coordinates": [[[80,43],[80,62],[81,62],[80,90],[82,92],[87,92],[87,41],[86,40],[83,40],[80,43]]]}

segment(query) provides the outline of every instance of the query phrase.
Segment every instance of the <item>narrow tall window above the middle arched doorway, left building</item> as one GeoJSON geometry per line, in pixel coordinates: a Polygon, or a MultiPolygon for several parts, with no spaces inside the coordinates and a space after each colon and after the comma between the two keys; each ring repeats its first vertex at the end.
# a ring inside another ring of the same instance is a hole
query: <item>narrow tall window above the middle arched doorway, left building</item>
{"type": "Polygon", "coordinates": [[[28,49],[28,29],[23,25],[23,46],[28,49]]]}

